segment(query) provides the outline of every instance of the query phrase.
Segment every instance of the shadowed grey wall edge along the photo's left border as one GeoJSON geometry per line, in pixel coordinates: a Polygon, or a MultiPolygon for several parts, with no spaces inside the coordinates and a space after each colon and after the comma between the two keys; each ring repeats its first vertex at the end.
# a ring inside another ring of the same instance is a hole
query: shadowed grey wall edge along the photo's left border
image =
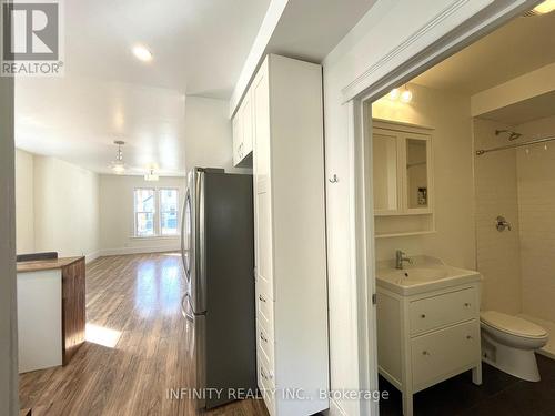
{"type": "Polygon", "coordinates": [[[0,415],[7,416],[19,414],[14,158],[13,79],[0,78],[0,415]]]}

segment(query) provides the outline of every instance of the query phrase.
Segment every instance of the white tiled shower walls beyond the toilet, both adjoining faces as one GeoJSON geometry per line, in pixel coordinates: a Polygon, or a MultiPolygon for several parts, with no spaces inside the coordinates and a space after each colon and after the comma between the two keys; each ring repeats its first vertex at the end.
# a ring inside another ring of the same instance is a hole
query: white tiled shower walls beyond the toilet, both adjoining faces
{"type": "MultiPolygon", "coordinates": [[[[555,135],[555,116],[509,126],[474,120],[475,149],[506,143],[496,129],[527,141],[555,135]]],[[[555,142],[475,158],[476,260],[483,310],[555,322],[555,142]],[[504,215],[513,231],[500,233],[504,215]]]]}

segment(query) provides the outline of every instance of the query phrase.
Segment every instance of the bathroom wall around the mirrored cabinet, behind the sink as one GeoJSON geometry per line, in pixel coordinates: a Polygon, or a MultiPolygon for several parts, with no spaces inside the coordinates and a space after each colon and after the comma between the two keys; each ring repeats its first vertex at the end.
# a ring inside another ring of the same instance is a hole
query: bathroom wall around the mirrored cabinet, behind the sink
{"type": "Polygon", "coordinates": [[[434,210],[436,232],[379,239],[376,260],[427,254],[447,264],[474,268],[474,181],[470,97],[411,84],[411,103],[381,99],[372,105],[376,119],[431,128],[433,136],[434,210]],[[456,243],[455,243],[456,242],[456,243]]]}

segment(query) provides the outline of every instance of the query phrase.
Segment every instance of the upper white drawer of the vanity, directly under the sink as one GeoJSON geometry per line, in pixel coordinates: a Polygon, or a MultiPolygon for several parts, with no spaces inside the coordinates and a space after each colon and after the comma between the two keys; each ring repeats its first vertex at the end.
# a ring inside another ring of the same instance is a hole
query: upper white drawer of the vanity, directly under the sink
{"type": "Polygon", "coordinates": [[[477,317],[476,290],[465,288],[411,302],[411,335],[477,317]]]}

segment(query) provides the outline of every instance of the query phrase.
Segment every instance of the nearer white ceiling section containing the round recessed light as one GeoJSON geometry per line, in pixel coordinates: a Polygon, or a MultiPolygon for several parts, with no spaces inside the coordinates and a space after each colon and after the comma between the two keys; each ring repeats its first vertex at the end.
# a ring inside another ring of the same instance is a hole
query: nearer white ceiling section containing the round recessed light
{"type": "Polygon", "coordinates": [[[69,74],[228,99],[270,0],[64,1],[69,74]],[[142,43],[154,60],[131,53],[142,43]]]}

